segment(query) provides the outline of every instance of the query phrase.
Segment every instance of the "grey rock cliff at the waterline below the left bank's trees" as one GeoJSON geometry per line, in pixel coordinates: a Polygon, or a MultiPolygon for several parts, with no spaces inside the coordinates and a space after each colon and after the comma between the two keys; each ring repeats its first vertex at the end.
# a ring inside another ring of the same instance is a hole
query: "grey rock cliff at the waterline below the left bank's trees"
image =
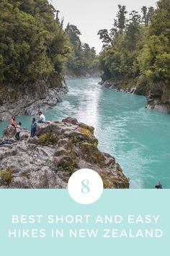
{"type": "Polygon", "coordinates": [[[0,85],[0,121],[11,116],[34,115],[61,102],[61,95],[67,93],[65,80],[24,82],[22,84],[0,85]]]}

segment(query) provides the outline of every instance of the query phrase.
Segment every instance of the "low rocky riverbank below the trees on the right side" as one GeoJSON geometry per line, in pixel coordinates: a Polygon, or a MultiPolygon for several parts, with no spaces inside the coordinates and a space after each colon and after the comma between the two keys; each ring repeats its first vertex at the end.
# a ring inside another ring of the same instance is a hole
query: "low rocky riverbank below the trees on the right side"
{"type": "Polygon", "coordinates": [[[154,83],[149,89],[143,85],[122,86],[121,83],[113,82],[112,80],[99,82],[99,84],[117,92],[144,95],[147,98],[147,108],[170,114],[170,91],[162,82],[154,83]]]}

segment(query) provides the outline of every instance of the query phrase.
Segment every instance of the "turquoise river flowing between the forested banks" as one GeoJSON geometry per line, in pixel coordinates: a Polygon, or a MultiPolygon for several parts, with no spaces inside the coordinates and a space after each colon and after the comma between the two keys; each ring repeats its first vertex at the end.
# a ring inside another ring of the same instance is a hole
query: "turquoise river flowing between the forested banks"
{"type": "MultiPolygon", "coordinates": [[[[95,127],[99,149],[114,155],[131,188],[154,188],[158,180],[170,188],[170,116],[145,108],[146,98],[98,85],[99,78],[69,80],[69,93],[48,120],[75,116],[95,127]]],[[[21,116],[30,129],[30,116],[21,116]]],[[[0,133],[9,122],[0,123],[0,133]]]]}

